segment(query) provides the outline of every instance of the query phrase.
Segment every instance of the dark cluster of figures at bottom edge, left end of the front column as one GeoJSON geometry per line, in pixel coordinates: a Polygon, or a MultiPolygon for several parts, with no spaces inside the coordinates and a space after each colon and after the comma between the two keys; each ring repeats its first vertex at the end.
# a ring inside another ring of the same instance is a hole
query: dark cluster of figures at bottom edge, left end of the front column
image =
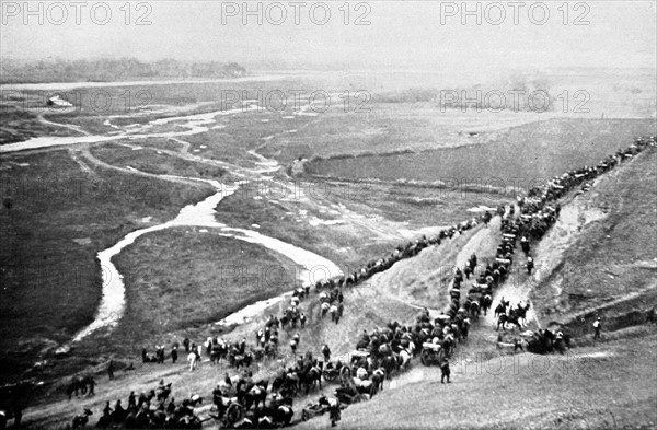
{"type": "MultiPolygon", "coordinates": [[[[126,407],[120,399],[116,400],[114,407],[107,402],[95,426],[103,429],[200,429],[201,420],[194,414],[194,408],[203,403],[203,398],[192,395],[176,403],[170,395],[171,383],[164,384],[164,380],[139,396],[130,392],[126,407]]],[[[92,415],[91,410],[84,409],[73,417],[72,428],[85,427],[92,415]]]]}

